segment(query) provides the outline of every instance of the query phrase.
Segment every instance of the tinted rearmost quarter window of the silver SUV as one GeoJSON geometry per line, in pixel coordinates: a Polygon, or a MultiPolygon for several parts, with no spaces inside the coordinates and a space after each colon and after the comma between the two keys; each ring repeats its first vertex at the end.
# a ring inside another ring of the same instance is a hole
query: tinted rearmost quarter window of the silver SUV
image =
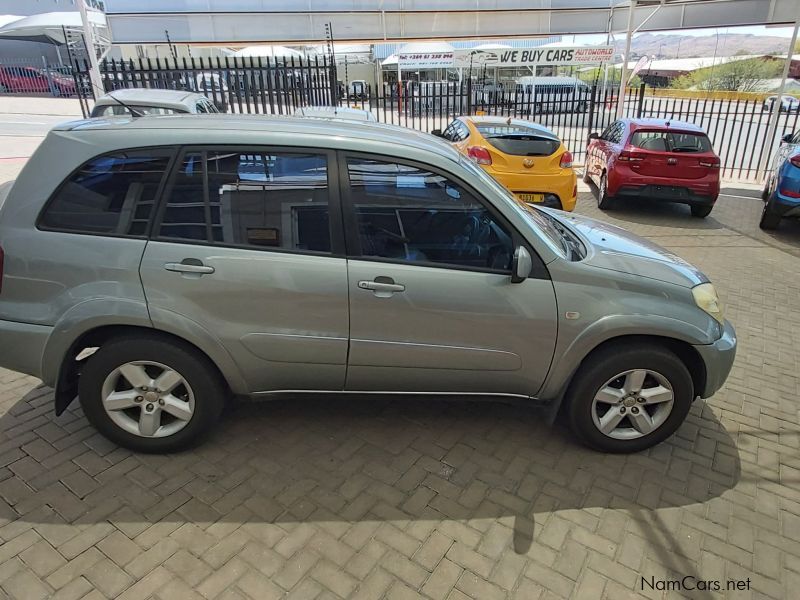
{"type": "Polygon", "coordinates": [[[133,150],[84,164],[56,192],[43,227],[144,235],[172,151],[133,150]]]}

